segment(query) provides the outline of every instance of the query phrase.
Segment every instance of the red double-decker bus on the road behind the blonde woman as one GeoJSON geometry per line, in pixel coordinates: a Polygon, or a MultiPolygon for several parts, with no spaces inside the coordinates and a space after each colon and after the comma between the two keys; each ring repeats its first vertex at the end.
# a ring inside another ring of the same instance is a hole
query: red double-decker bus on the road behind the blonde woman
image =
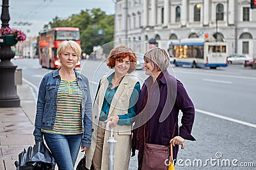
{"type": "MultiPolygon", "coordinates": [[[[60,67],[60,61],[57,57],[57,48],[61,41],[64,40],[76,41],[81,46],[79,28],[55,27],[39,33],[38,57],[42,67],[60,67]]],[[[80,59],[76,67],[80,67],[80,59]]]]}

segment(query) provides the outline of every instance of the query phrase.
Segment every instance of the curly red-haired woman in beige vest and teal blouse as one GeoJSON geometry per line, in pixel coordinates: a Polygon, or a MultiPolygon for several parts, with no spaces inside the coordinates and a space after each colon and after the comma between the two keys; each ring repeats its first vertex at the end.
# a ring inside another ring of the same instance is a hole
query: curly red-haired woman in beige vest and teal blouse
{"type": "Polygon", "coordinates": [[[109,127],[113,129],[115,145],[114,169],[128,169],[131,156],[131,131],[136,116],[136,101],[140,83],[130,73],[136,69],[136,54],[127,46],[111,50],[108,67],[114,73],[103,76],[93,105],[92,145],[86,150],[86,168],[108,169],[109,127]]]}

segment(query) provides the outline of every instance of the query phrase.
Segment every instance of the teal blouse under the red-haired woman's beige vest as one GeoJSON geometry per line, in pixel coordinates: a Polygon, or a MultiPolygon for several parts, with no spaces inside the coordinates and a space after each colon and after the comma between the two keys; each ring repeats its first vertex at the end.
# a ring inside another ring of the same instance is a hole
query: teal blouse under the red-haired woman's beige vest
{"type": "MultiPolygon", "coordinates": [[[[106,90],[105,96],[104,96],[104,101],[102,104],[102,108],[100,111],[100,121],[105,121],[108,119],[108,113],[109,113],[109,108],[110,104],[112,102],[112,99],[115,95],[116,90],[118,89],[118,86],[116,86],[114,89],[111,89],[113,86],[111,82],[111,78],[113,77],[114,74],[111,74],[108,76],[107,80],[109,81],[108,89],[106,90]]],[[[121,82],[122,80],[120,80],[121,82]]],[[[129,104],[129,109],[128,113],[125,115],[118,115],[119,117],[119,122],[118,125],[130,125],[132,122],[134,122],[134,118],[136,116],[136,102],[138,99],[138,95],[140,94],[140,83],[137,82],[136,85],[134,86],[134,89],[132,91],[131,97],[130,97],[130,104],[129,104]]]]}

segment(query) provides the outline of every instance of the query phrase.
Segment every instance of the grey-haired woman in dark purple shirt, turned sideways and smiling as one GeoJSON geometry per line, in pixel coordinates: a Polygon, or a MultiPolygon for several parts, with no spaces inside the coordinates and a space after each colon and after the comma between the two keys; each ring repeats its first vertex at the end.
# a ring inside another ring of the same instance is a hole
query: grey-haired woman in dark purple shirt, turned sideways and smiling
{"type": "Polygon", "coordinates": [[[132,152],[139,150],[138,169],[145,169],[144,143],[165,146],[171,143],[173,160],[176,160],[179,145],[185,139],[195,141],[191,136],[195,108],[182,83],[167,71],[170,65],[168,53],[162,48],[152,48],[145,53],[144,60],[145,74],[149,77],[136,104],[137,117],[132,138],[132,152]],[[183,116],[179,127],[180,110],[183,116]]]}

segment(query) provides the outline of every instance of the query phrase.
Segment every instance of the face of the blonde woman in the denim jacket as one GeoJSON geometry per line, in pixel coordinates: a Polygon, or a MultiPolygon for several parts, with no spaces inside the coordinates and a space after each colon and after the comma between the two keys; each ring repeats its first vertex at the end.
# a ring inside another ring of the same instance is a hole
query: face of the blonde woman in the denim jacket
{"type": "Polygon", "coordinates": [[[78,62],[78,56],[72,48],[67,47],[59,56],[61,60],[61,67],[65,69],[74,69],[78,62]]]}

